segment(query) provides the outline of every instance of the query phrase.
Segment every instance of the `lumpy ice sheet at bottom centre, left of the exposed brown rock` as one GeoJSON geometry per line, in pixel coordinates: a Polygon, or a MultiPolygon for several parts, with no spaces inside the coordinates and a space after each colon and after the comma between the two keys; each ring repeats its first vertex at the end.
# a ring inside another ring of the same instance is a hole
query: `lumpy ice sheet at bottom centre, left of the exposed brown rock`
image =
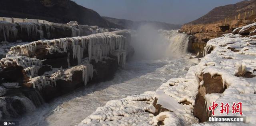
{"type": "Polygon", "coordinates": [[[158,125],[160,122],[164,122],[166,126],[180,126],[197,123],[198,119],[192,113],[198,90],[195,69],[195,66],[191,67],[186,78],[175,78],[162,84],[156,92],[150,91],[119,100],[111,100],[84,119],[80,126],[158,125]],[[156,99],[157,104],[161,104],[170,112],[161,112],[154,116],[156,108],[153,104],[156,99]],[[190,104],[183,104],[185,101],[190,104]]]}

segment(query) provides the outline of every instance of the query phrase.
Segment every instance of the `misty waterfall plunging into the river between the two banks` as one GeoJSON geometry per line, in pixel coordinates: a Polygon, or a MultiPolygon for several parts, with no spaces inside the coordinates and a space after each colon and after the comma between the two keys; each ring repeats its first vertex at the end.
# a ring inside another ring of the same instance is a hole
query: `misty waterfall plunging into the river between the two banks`
{"type": "Polygon", "coordinates": [[[156,30],[144,25],[134,32],[131,44],[137,59],[178,58],[186,54],[188,36],[177,30],[156,30]]]}

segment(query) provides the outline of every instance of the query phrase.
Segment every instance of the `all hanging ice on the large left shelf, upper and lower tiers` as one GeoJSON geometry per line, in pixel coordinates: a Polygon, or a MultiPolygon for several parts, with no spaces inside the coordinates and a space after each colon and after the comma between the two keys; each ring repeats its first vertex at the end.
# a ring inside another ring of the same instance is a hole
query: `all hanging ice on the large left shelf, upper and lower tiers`
{"type": "Polygon", "coordinates": [[[46,86],[56,86],[57,80],[72,82],[75,72],[82,72],[82,82],[84,85],[93,77],[92,60],[96,63],[109,56],[116,56],[118,64],[124,67],[126,62],[126,53],[130,45],[131,35],[128,31],[106,32],[92,34],[83,37],[60,38],[54,40],[39,40],[24,45],[17,45],[10,48],[6,58],[0,60],[1,68],[12,65],[22,66],[28,84],[33,88],[42,90],[46,86]],[[44,52],[46,54],[38,54],[44,52]],[[70,67],[72,60],[77,61],[77,66],[63,69],[54,68],[50,72],[38,76],[39,69],[43,66],[44,60],[36,57],[47,54],[67,54],[67,61],[70,67]]]}

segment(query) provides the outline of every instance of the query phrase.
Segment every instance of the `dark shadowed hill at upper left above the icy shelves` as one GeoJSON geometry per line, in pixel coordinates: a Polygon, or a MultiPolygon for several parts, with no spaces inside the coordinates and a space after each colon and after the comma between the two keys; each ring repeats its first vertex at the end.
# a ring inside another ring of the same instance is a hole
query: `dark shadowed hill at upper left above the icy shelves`
{"type": "Polygon", "coordinates": [[[71,0],[0,0],[0,17],[42,19],[56,23],[122,28],[102,18],[94,10],[71,0]]]}

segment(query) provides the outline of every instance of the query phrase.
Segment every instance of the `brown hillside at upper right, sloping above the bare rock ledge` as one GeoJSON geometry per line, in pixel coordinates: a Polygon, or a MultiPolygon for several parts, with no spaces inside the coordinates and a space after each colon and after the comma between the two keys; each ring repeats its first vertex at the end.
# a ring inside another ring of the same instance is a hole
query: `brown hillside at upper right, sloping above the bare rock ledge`
{"type": "MultiPolygon", "coordinates": [[[[244,12],[248,12],[250,10],[254,9],[254,14],[256,14],[256,0],[245,0],[238,2],[236,4],[229,4],[226,6],[219,6],[214,9],[212,9],[210,12],[208,12],[206,15],[189,22],[187,24],[206,24],[218,20],[222,20],[228,16],[234,17],[235,15],[238,15],[238,13],[244,14],[244,12]]],[[[243,15],[244,16],[244,15],[243,15]]],[[[242,18],[242,16],[241,16],[242,18]]]]}

